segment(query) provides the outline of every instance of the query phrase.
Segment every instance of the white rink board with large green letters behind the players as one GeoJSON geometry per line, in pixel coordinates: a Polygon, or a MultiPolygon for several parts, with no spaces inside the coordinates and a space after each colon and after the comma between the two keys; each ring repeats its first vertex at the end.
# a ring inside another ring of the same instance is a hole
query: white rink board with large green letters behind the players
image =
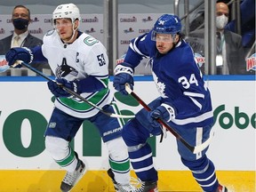
{"type": "MultiPolygon", "coordinates": [[[[208,156],[217,170],[255,170],[255,81],[209,81],[208,84],[216,119],[208,156]]],[[[60,169],[44,150],[44,129],[53,108],[52,93],[46,82],[0,79],[0,90],[0,170],[60,169]]],[[[146,103],[158,96],[152,81],[136,81],[134,92],[146,103]]],[[[118,105],[134,113],[141,108],[120,101],[118,105]]],[[[77,132],[76,152],[90,170],[108,169],[106,146],[100,142],[100,150],[95,148],[90,141],[84,140],[84,130],[87,129],[77,132]],[[85,147],[94,152],[98,150],[98,156],[83,156],[85,147]]],[[[185,170],[174,136],[168,132],[162,143],[159,139],[156,138],[156,168],[185,170]]]]}

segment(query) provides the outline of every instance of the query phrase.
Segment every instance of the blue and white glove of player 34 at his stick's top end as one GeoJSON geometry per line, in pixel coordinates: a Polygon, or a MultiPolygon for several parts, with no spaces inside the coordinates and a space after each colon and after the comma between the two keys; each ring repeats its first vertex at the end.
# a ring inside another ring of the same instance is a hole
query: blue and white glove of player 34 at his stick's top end
{"type": "Polygon", "coordinates": [[[113,85],[116,91],[127,95],[128,92],[125,91],[125,84],[129,84],[132,90],[134,85],[132,65],[125,62],[116,65],[115,74],[113,85]]]}

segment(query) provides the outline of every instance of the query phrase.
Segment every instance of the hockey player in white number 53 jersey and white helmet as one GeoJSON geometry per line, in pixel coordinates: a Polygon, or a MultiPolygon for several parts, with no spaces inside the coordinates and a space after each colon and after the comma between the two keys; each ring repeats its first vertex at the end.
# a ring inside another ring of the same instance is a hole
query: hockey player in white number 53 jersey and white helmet
{"type": "Polygon", "coordinates": [[[56,100],[45,131],[45,148],[52,159],[67,170],[60,184],[61,190],[71,190],[86,170],[76,151],[69,147],[69,142],[84,120],[88,120],[99,129],[107,145],[111,167],[108,174],[116,191],[131,192],[134,188],[129,183],[130,161],[121,137],[124,120],[100,113],[60,87],[62,84],[109,113],[118,113],[108,88],[106,49],[99,40],[79,31],[80,20],[75,4],[60,4],[52,13],[54,30],[44,36],[44,44],[31,49],[13,48],[6,53],[6,60],[11,66],[16,60],[27,63],[47,60],[56,76],[55,81],[48,82],[56,100]]]}

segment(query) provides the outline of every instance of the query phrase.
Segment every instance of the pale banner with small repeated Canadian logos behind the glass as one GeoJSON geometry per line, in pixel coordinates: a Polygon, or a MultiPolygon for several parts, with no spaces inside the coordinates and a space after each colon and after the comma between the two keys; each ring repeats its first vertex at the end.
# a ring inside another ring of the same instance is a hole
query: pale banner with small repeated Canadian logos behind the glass
{"type": "MultiPolygon", "coordinates": [[[[136,13],[118,14],[118,58],[121,58],[128,49],[131,40],[137,36],[147,33],[153,28],[160,13],[136,13]]],[[[12,16],[0,15],[0,39],[13,33],[12,16]]],[[[43,39],[44,34],[52,30],[52,14],[32,14],[28,31],[31,35],[43,39]]],[[[79,29],[104,43],[103,36],[103,14],[81,14],[79,29]]],[[[140,75],[150,74],[148,60],[144,59],[136,68],[135,73],[140,75]]]]}

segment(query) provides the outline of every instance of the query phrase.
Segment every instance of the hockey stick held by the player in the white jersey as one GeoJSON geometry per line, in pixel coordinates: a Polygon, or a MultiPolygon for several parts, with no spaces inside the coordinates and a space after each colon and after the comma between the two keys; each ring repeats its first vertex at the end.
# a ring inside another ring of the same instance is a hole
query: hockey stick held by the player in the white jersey
{"type": "MultiPolygon", "coordinates": [[[[20,64],[26,68],[29,68],[30,70],[34,71],[36,74],[38,74],[39,76],[43,76],[45,79],[47,79],[48,81],[52,81],[52,79],[49,76],[46,76],[44,73],[42,73],[41,71],[38,71],[36,68],[32,68],[30,65],[28,65],[27,63],[23,62],[22,60],[17,60],[13,64],[13,66],[15,67],[16,65],[20,64]],[[15,64],[16,63],[16,64],[15,64]]],[[[77,92],[74,92],[70,89],[68,89],[67,87],[63,86],[62,84],[59,84],[59,86],[65,90],[66,92],[68,92],[69,94],[75,96],[77,99],[83,100],[85,103],[91,105],[93,108],[97,108],[101,113],[105,114],[106,116],[111,116],[111,117],[115,117],[115,118],[133,118],[134,116],[124,116],[124,115],[119,115],[119,114],[115,114],[115,113],[108,113],[107,111],[104,111],[102,108],[100,108],[99,106],[95,105],[94,103],[92,103],[90,100],[86,100],[84,99],[84,97],[82,97],[80,94],[78,94],[77,92]]]]}

